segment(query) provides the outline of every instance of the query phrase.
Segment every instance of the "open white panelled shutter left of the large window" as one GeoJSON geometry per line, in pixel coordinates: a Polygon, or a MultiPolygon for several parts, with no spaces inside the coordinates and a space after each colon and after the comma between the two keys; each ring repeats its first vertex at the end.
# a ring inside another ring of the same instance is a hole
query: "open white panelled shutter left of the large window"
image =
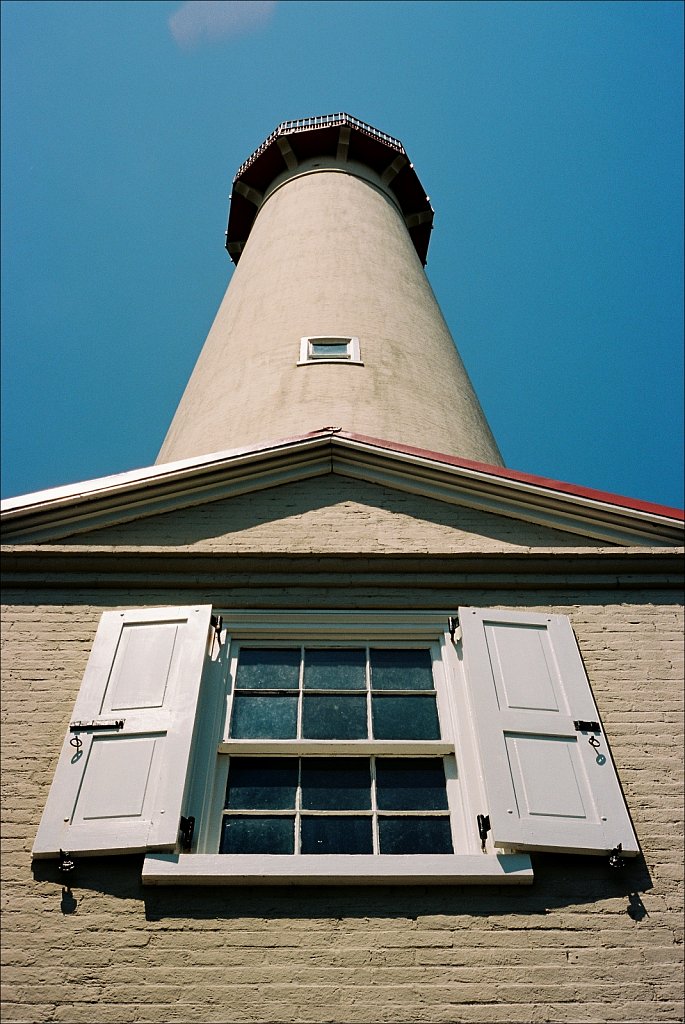
{"type": "Polygon", "coordinates": [[[35,857],[174,849],[210,614],[103,613],[71,720],[81,728],[67,733],[35,857]]]}

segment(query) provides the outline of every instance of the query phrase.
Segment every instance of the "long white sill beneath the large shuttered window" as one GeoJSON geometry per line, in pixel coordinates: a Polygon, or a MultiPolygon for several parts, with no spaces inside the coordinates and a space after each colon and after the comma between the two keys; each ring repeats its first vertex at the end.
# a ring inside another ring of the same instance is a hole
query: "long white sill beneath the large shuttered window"
{"type": "Polygon", "coordinates": [[[148,853],[143,885],[530,885],[527,854],[276,856],[148,853]]]}

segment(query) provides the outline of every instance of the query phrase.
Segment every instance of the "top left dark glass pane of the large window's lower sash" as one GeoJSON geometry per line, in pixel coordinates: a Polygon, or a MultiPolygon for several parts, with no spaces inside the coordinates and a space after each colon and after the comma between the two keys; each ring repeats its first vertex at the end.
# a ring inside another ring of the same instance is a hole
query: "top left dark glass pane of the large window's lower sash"
{"type": "Polygon", "coordinates": [[[231,758],[225,807],[244,811],[295,810],[297,758],[231,758]]]}

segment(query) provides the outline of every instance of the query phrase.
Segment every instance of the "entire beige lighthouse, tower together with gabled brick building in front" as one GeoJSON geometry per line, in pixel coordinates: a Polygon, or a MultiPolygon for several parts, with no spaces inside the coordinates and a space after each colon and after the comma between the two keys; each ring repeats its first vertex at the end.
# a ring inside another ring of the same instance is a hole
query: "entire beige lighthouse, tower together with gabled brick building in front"
{"type": "Polygon", "coordinates": [[[3,503],[8,1019],[682,1019],[683,513],[502,465],[432,216],[280,125],[157,464],[3,503]]]}

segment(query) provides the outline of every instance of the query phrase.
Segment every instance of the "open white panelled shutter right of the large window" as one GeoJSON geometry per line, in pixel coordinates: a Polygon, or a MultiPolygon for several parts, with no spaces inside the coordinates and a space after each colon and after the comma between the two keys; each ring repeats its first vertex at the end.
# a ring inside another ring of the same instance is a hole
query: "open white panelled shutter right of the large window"
{"type": "Polygon", "coordinates": [[[639,853],[603,729],[574,725],[599,715],[568,618],[461,608],[460,621],[495,845],[639,853]]]}

